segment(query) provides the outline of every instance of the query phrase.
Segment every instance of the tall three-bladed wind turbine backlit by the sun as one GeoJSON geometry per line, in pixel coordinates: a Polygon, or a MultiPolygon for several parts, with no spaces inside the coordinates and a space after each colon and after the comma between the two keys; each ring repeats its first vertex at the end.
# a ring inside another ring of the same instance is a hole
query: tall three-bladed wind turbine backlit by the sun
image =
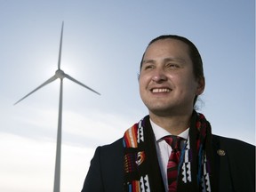
{"type": "Polygon", "coordinates": [[[44,87],[46,84],[52,83],[57,78],[60,78],[60,102],[59,102],[59,118],[58,118],[58,132],[57,132],[57,147],[56,147],[56,159],[55,159],[55,173],[54,173],[54,188],[53,192],[60,192],[60,153],[61,153],[61,122],[62,122],[62,95],[63,95],[63,78],[68,78],[69,80],[75,82],[76,84],[80,84],[81,86],[85,87],[86,89],[95,92],[100,95],[99,92],[92,90],[92,88],[86,86],[85,84],[80,83],[72,76],[68,76],[68,74],[64,73],[63,70],[60,69],[60,60],[61,60],[61,49],[62,49],[62,36],[63,36],[63,27],[64,22],[62,22],[61,33],[60,33],[60,51],[59,51],[59,60],[58,60],[58,69],[55,72],[55,75],[49,78],[44,84],[38,86],[32,92],[29,92],[26,96],[18,100],[14,105],[19,103],[21,100],[27,98],[33,92],[36,92],[40,88],[44,87]]]}

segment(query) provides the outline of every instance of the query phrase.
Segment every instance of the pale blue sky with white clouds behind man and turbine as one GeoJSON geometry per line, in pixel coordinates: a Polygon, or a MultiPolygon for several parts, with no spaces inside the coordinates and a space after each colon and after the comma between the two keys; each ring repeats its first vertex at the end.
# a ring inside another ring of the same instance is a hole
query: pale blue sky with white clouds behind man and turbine
{"type": "Polygon", "coordinates": [[[95,148],[148,115],[138,73],[149,41],[194,42],[206,87],[198,111],[212,132],[255,145],[255,3],[234,1],[0,0],[0,191],[53,189],[61,69],[64,79],[60,191],[80,191],[95,148]]]}

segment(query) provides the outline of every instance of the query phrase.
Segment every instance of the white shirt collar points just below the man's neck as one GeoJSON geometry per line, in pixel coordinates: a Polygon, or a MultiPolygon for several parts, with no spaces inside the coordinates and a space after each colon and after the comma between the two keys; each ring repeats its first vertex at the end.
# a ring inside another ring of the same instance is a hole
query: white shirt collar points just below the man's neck
{"type": "MultiPolygon", "coordinates": [[[[159,125],[155,124],[151,119],[150,124],[152,126],[153,132],[156,137],[156,141],[161,140],[164,136],[172,135],[170,132],[167,132],[164,128],[160,127],[159,125]]],[[[189,128],[184,132],[181,132],[178,136],[187,140],[188,139],[188,132],[189,128]]]]}

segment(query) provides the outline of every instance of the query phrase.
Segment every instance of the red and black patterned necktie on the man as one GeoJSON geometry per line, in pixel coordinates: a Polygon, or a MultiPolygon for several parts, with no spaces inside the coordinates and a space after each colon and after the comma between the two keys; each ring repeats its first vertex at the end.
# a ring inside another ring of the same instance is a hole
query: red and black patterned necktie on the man
{"type": "Polygon", "coordinates": [[[182,140],[182,138],[170,135],[163,139],[172,147],[172,153],[167,164],[168,191],[176,192],[178,166],[180,161],[180,140],[182,140]]]}

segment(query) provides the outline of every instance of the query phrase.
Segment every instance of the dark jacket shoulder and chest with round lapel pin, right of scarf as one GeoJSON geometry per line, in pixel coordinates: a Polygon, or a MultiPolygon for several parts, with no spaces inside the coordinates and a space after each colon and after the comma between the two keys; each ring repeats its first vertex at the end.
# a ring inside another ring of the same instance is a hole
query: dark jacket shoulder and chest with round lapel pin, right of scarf
{"type": "Polygon", "coordinates": [[[255,191],[255,146],[243,140],[212,135],[212,147],[219,187],[225,188],[221,191],[228,191],[229,184],[234,191],[255,191]]]}

